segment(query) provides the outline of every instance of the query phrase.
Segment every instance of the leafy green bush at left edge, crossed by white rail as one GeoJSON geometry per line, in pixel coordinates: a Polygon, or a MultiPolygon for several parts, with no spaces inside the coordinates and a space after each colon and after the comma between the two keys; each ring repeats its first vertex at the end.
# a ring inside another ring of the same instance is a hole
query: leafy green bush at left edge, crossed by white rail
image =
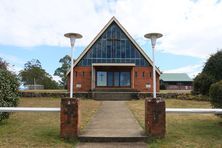
{"type": "MultiPolygon", "coordinates": [[[[18,79],[11,72],[0,69],[0,106],[14,107],[18,103],[18,79]]],[[[0,121],[9,117],[9,113],[0,112],[0,121]]]]}

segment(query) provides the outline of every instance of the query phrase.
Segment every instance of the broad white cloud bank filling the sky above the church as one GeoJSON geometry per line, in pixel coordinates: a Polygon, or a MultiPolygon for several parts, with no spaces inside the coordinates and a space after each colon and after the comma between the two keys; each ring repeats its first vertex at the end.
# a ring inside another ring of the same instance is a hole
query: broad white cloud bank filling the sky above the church
{"type": "Polygon", "coordinates": [[[66,32],[79,32],[86,46],[112,16],[139,42],[147,32],[161,32],[158,50],[206,58],[222,36],[218,0],[2,0],[0,44],[69,46],[66,32]]]}

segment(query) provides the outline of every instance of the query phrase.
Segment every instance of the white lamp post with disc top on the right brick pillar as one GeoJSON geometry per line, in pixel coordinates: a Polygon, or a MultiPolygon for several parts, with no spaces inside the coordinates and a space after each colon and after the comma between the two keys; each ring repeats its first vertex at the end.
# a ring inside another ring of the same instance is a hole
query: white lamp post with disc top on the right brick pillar
{"type": "Polygon", "coordinates": [[[153,98],[156,99],[156,66],[155,66],[155,56],[154,49],[156,45],[156,40],[163,35],[161,33],[148,33],[144,37],[151,40],[152,50],[153,50],[153,98]]]}

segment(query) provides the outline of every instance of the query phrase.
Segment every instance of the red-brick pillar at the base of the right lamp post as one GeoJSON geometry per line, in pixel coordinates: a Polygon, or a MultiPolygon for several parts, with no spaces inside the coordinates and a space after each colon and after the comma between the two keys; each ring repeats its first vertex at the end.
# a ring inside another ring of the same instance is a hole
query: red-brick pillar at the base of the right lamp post
{"type": "Polygon", "coordinates": [[[163,138],[166,133],[165,101],[145,99],[145,130],[151,137],[163,138]]]}

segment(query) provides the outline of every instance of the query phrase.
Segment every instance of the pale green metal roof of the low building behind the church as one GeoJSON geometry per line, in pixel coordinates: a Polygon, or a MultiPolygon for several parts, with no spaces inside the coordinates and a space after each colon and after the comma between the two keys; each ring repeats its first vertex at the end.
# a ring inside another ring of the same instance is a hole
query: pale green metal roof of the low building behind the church
{"type": "Polygon", "coordinates": [[[193,81],[186,73],[163,73],[160,75],[160,80],[165,82],[188,82],[193,81]]]}

